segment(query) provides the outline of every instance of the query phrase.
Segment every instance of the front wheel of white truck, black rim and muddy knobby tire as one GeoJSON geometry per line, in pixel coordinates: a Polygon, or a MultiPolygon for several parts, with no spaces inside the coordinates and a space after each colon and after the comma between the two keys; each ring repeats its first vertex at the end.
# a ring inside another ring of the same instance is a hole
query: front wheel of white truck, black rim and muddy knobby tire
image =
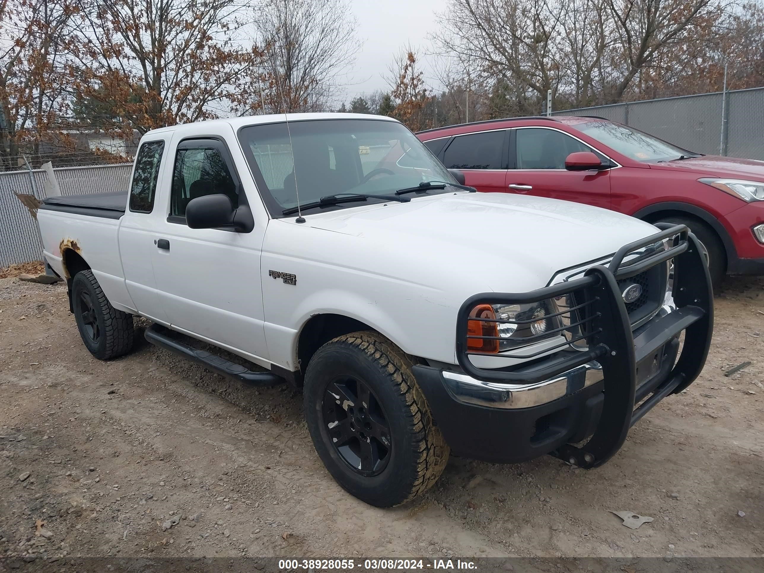
{"type": "Polygon", "coordinates": [[[383,335],[353,332],[319,348],[305,375],[316,452],[338,484],[377,507],[424,493],[448,461],[412,366],[383,335]]]}

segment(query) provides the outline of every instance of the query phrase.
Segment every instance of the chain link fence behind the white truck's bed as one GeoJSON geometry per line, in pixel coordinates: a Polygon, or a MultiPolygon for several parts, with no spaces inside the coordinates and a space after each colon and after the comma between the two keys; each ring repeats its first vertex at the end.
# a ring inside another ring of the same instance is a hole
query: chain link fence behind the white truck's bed
{"type": "MultiPolygon", "coordinates": [[[[92,167],[57,167],[50,170],[61,195],[125,191],[130,185],[132,163],[92,167]]],[[[16,193],[45,199],[52,188],[47,170],[0,173],[0,267],[39,261],[43,256],[37,221],[16,193]]]]}

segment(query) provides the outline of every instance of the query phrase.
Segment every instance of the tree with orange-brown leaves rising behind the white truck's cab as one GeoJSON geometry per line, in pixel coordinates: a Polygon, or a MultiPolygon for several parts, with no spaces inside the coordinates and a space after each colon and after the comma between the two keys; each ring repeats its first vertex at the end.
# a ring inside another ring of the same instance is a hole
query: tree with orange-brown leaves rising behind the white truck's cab
{"type": "Polygon", "coordinates": [[[86,0],[71,75],[112,130],[144,132],[244,105],[244,72],[262,56],[235,32],[235,0],[86,0]],[[108,113],[106,112],[108,110],[108,113]]]}

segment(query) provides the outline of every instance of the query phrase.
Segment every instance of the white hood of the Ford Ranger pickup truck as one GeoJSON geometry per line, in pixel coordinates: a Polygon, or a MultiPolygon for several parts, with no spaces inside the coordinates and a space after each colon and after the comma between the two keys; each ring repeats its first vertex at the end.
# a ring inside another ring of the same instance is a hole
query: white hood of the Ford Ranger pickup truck
{"type": "Polygon", "coordinates": [[[505,292],[545,286],[558,270],[658,231],[606,209],[508,193],[443,194],[342,209],[309,216],[309,225],[418,257],[414,274],[440,274],[445,267],[476,277],[481,290],[505,292]]]}

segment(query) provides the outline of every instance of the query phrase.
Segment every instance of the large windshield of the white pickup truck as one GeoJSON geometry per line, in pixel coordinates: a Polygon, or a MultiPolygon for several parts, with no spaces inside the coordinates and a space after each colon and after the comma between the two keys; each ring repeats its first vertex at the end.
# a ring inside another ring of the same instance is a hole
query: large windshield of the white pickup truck
{"type": "MultiPolygon", "coordinates": [[[[338,193],[394,193],[422,181],[456,183],[427,148],[397,121],[319,119],[241,128],[244,155],[274,217],[283,210],[338,193]]],[[[429,189],[426,193],[444,193],[429,189]]],[[[314,209],[349,209],[380,202],[314,209]]]]}

